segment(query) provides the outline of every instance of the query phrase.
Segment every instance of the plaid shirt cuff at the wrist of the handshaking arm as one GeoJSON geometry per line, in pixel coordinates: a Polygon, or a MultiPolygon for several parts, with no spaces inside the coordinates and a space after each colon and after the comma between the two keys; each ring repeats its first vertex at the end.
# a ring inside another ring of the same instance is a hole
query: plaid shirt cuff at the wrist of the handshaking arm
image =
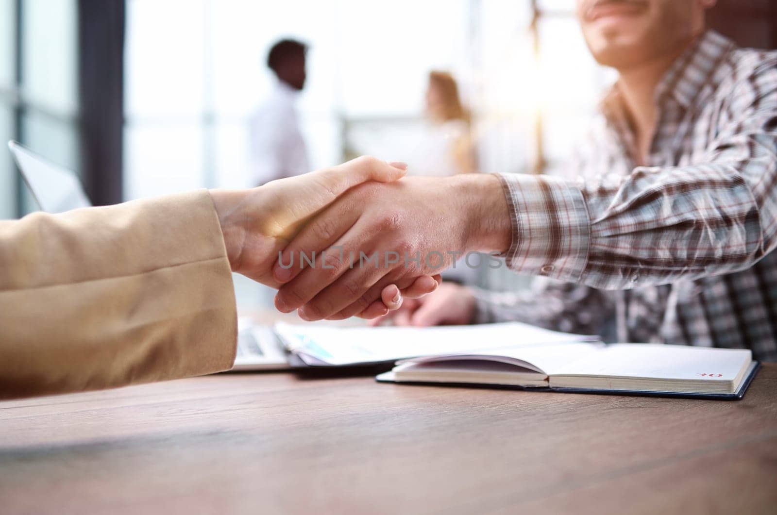
{"type": "Polygon", "coordinates": [[[507,266],[518,273],[579,281],[591,238],[591,220],[580,188],[552,176],[497,176],[510,208],[507,266]]]}

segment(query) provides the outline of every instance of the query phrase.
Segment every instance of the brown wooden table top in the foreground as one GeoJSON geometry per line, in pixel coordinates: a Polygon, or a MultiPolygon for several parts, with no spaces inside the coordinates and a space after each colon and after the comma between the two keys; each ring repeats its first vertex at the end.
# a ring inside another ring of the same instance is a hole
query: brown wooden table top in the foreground
{"type": "Polygon", "coordinates": [[[743,401],[221,374],[0,402],[2,513],[777,513],[743,401]]]}

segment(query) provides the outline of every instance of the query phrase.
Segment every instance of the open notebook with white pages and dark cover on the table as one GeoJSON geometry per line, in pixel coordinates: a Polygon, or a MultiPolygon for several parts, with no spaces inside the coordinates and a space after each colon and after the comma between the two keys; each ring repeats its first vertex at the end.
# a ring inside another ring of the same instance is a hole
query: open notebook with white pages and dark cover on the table
{"type": "Polygon", "coordinates": [[[750,350],[560,343],[403,360],[378,381],[742,398],[757,369],[750,350]]]}

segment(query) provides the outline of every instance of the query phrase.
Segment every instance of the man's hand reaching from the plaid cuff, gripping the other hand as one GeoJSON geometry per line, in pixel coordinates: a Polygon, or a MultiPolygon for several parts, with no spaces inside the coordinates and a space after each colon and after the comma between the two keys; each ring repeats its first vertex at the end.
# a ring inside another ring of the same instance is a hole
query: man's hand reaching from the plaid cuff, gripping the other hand
{"type": "Polygon", "coordinates": [[[285,283],[275,305],[284,312],[301,308],[306,320],[346,318],[389,284],[440,273],[465,252],[502,252],[509,245],[507,200],[496,176],[363,184],[284,249],[274,267],[275,280],[285,283]],[[301,253],[312,251],[315,262],[308,266],[301,253]]]}

